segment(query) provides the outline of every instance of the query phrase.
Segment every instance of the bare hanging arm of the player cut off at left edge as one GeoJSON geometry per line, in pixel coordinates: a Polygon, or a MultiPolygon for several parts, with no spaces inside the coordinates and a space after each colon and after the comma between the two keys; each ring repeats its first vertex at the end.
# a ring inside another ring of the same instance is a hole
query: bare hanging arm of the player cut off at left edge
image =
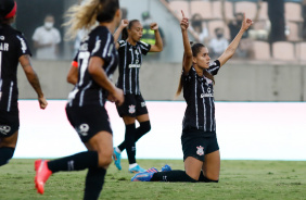
{"type": "Polygon", "coordinates": [[[48,102],[43,97],[38,76],[36,75],[35,71],[31,67],[29,55],[28,54],[22,55],[20,58],[20,63],[23,66],[23,70],[26,74],[29,84],[31,85],[31,87],[34,88],[34,90],[38,96],[40,109],[46,109],[48,102]]]}

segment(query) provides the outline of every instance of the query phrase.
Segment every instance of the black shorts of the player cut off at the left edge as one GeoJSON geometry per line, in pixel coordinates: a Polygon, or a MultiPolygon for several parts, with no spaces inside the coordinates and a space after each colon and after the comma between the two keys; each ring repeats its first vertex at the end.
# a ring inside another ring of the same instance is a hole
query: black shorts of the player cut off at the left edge
{"type": "Polygon", "coordinates": [[[0,110],[0,137],[10,137],[20,129],[20,111],[0,110]]]}

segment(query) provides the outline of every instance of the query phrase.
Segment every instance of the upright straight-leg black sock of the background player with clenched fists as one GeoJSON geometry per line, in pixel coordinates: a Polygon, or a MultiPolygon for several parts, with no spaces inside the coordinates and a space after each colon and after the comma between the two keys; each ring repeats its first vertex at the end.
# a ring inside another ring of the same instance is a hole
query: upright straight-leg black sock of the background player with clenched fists
{"type": "Polygon", "coordinates": [[[135,123],[126,125],[125,142],[126,142],[126,150],[128,154],[129,164],[136,163],[135,133],[136,133],[135,123]]]}

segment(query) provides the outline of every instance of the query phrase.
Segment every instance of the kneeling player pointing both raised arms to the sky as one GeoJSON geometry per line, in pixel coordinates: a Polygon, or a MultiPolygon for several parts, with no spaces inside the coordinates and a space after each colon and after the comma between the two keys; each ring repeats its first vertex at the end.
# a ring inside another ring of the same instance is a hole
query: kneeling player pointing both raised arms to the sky
{"type": "Polygon", "coordinates": [[[218,60],[209,64],[211,58],[205,46],[202,43],[190,46],[187,33],[189,21],[182,12],[180,27],[184,54],[177,95],[183,89],[183,98],[187,102],[181,136],[186,171],[139,173],[132,177],[132,182],[217,183],[219,180],[220,154],[216,137],[214,75],[233,55],[243,33],[252,23],[244,15],[235,38],[218,60]]]}

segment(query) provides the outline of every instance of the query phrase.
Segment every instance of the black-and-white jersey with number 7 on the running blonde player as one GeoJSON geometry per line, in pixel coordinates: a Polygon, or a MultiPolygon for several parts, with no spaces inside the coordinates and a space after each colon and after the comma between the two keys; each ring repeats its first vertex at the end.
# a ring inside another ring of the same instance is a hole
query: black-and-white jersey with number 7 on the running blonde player
{"type": "Polygon", "coordinates": [[[88,72],[91,57],[100,57],[103,59],[103,70],[107,77],[110,77],[117,67],[118,53],[115,48],[114,38],[105,26],[94,28],[80,43],[78,53],[74,59],[74,61],[78,63],[78,83],[69,93],[69,107],[104,107],[105,104],[107,91],[100,87],[88,72]]]}

